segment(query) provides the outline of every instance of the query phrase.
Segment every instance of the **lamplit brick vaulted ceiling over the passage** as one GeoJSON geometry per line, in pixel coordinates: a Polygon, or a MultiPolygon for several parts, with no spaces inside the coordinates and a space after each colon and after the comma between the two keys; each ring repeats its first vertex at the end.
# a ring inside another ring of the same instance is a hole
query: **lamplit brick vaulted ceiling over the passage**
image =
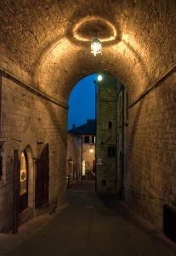
{"type": "Polygon", "coordinates": [[[1,0],[0,51],[62,102],[98,72],[119,79],[132,100],[176,63],[175,13],[175,0],[1,0]]]}

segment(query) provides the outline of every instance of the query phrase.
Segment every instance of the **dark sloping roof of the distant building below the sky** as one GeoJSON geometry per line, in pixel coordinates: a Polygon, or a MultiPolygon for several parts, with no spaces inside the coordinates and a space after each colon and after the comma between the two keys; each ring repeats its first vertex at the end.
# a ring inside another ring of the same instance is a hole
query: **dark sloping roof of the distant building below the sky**
{"type": "Polygon", "coordinates": [[[87,119],[87,123],[72,128],[68,131],[71,134],[77,135],[95,135],[96,133],[96,119],[87,119]]]}

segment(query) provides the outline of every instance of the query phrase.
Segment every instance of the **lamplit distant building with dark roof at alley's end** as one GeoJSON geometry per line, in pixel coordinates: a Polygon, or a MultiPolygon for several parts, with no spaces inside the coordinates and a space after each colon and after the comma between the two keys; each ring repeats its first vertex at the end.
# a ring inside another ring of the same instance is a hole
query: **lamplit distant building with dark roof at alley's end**
{"type": "MultiPolygon", "coordinates": [[[[82,143],[79,144],[79,147],[82,148],[82,177],[87,175],[95,176],[95,133],[95,119],[88,119],[86,124],[73,127],[68,131],[68,138],[74,136],[77,137],[78,140],[78,137],[82,137],[82,143]]],[[[69,143],[68,154],[71,154],[71,145],[69,145],[69,143]]]]}

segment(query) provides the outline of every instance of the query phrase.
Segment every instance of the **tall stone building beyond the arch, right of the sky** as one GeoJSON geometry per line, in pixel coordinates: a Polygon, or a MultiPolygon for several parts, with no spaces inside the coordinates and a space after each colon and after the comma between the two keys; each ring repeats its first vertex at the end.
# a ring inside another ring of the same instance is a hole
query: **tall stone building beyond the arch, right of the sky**
{"type": "Polygon", "coordinates": [[[97,192],[122,194],[123,91],[122,84],[109,75],[97,81],[97,192]]]}

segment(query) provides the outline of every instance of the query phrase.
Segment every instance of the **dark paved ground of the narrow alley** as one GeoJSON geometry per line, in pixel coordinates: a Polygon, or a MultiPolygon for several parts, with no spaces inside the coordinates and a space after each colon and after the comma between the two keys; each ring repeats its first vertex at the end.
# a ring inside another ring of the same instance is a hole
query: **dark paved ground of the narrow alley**
{"type": "Polygon", "coordinates": [[[0,234],[0,241],[1,256],[176,255],[176,245],[122,201],[97,195],[94,181],[72,184],[65,207],[23,224],[15,236],[0,234]]]}

